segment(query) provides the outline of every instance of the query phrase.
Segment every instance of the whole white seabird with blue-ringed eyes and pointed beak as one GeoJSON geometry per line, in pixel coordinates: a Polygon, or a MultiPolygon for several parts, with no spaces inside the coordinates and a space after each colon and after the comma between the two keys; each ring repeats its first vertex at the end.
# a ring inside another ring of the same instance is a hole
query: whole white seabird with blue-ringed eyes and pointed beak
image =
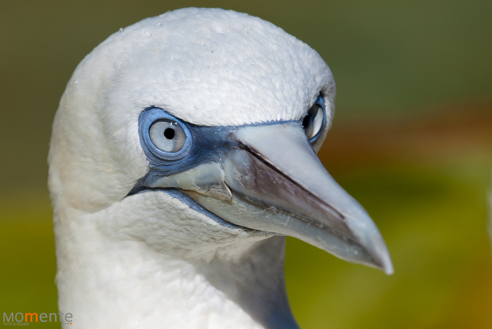
{"type": "Polygon", "coordinates": [[[285,236],[392,273],[316,156],[334,110],[318,53],[247,14],[175,10],[97,46],[48,158],[64,328],[298,328],[285,236]]]}

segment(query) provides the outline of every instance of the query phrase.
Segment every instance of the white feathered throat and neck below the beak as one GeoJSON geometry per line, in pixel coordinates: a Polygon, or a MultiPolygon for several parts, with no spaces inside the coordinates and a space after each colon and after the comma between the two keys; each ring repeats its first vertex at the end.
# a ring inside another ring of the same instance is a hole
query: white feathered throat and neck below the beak
{"type": "Polygon", "coordinates": [[[284,237],[225,228],[163,192],[64,208],[55,231],[67,328],[296,328],[284,237]]]}

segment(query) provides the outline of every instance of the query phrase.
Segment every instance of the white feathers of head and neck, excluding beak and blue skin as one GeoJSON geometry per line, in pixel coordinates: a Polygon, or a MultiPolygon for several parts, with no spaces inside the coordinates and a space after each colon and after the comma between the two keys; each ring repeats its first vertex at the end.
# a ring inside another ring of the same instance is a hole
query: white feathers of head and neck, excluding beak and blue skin
{"type": "Polygon", "coordinates": [[[334,113],[329,67],[234,11],[168,12],[97,46],[63,93],[49,153],[59,307],[73,315],[64,327],[295,328],[283,237],[221,225],[165,190],[127,195],[150,168],[144,109],[199,126],[302,120],[320,93],[316,148],[334,113]]]}

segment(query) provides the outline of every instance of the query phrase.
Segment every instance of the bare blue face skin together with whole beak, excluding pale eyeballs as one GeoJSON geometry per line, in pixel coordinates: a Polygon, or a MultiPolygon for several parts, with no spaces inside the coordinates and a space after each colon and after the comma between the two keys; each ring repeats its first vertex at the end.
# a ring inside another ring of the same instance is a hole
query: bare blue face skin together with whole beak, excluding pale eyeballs
{"type": "Polygon", "coordinates": [[[139,134],[150,169],[129,195],[167,193],[221,225],[292,236],[391,274],[386,244],[369,214],[316,156],[329,128],[321,97],[316,104],[323,109],[319,131],[316,109],[302,120],[210,127],[148,108],[139,117],[139,134]],[[156,120],[183,129],[182,149],[166,152],[152,143],[156,120]]]}

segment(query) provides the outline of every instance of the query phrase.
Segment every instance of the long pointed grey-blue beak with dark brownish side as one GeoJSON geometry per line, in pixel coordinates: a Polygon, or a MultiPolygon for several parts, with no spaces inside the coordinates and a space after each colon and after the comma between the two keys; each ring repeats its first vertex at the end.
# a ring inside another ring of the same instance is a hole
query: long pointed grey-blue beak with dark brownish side
{"type": "Polygon", "coordinates": [[[300,123],[246,126],[228,137],[237,147],[225,153],[223,172],[211,170],[212,164],[196,167],[202,174],[178,174],[192,174],[194,187],[174,186],[231,223],[292,236],[348,262],[393,273],[376,225],[324,168],[300,123]]]}

